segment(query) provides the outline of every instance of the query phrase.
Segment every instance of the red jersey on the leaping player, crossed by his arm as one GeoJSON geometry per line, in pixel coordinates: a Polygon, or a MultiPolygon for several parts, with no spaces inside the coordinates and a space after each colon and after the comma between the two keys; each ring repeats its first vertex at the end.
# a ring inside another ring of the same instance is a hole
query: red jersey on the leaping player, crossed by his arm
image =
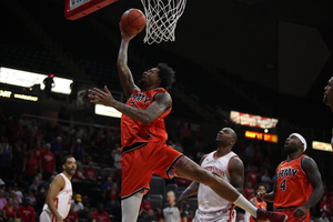
{"type": "MultiPolygon", "coordinates": [[[[159,92],[165,92],[163,88],[157,88],[142,92],[133,90],[131,97],[127,101],[127,105],[145,110],[153,101],[154,95],[159,92]]],[[[164,118],[171,112],[171,105],[157,120],[150,124],[144,124],[135,121],[124,114],[121,118],[121,142],[122,147],[130,147],[134,142],[149,141],[167,141],[168,134],[165,132],[164,118]]]]}

